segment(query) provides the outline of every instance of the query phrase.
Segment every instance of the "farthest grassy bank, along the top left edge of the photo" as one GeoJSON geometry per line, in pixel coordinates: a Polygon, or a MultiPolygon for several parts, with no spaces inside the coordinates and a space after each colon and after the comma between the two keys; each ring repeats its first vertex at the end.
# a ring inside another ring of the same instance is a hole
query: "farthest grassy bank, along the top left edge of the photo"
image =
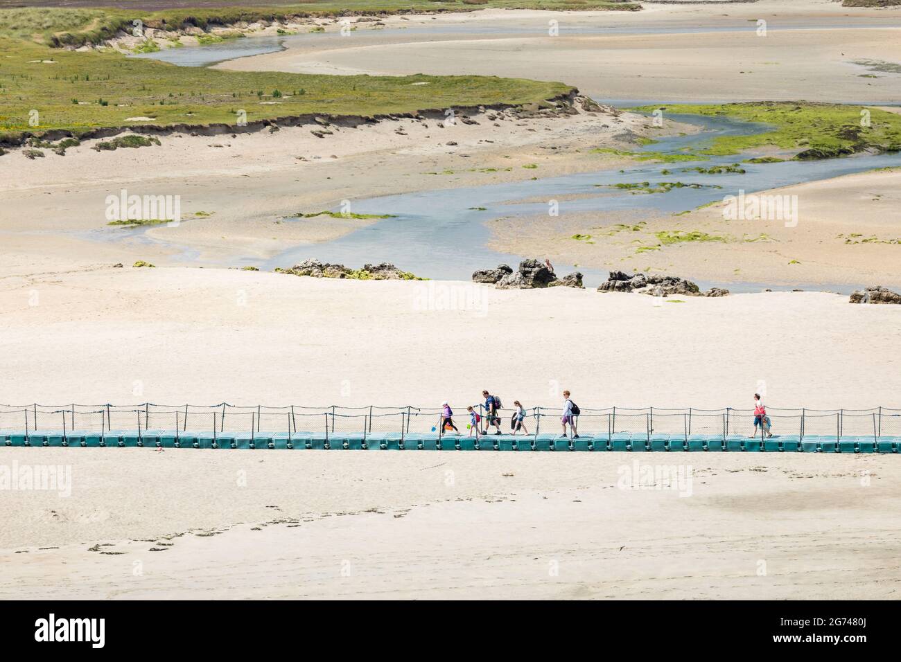
{"type": "MultiPolygon", "coordinates": [[[[131,31],[140,20],[150,28],[184,30],[290,17],[330,17],[359,14],[432,14],[479,9],[547,9],[566,11],[638,11],[628,0],[313,0],[298,4],[273,0],[44,0],[41,7],[2,8],[0,36],[40,41],[51,46],[96,44],[131,31]],[[65,6],[60,6],[60,5],[65,6]],[[198,6],[199,5],[199,6],[198,6]],[[166,8],[163,8],[166,7],[166,8]]],[[[9,3],[12,5],[13,3],[9,3]]]]}

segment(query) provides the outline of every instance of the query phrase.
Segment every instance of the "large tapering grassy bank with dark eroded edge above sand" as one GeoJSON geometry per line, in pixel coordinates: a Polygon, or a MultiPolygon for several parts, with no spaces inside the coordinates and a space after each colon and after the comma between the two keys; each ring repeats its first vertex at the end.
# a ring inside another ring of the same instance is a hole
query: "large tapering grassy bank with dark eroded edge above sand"
{"type": "Polygon", "coordinates": [[[114,52],[54,50],[12,39],[0,39],[0,52],[5,56],[0,59],[0,137],[7,143],[24,132],[81,135],[130,125],[235,124],[241,111],[249,123],[314,113],[370,117],[536,103],[572,90],[561,83],[516,78],[319,76],[176,67],[114,52]]]}

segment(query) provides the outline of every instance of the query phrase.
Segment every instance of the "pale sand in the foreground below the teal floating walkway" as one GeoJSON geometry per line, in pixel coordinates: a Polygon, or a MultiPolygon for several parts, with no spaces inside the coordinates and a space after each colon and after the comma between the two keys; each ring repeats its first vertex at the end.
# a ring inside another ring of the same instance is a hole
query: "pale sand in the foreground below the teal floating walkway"
{"type": "Polygon", "coordinates": [[[622,453],[5,455],[36,452],[72,492],[5,494],[28,514],[2,532],[4,599],[891,600],[901,581],[896,456],[692,454],[675,490],[633,489],[622,453]]]}

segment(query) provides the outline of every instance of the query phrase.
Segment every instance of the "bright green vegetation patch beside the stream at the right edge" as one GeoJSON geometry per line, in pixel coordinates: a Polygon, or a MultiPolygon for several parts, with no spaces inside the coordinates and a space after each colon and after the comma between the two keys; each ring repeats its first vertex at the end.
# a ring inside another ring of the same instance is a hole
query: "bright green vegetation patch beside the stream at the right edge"
{"type": "Polygon", "coordinates": [[[698,153],[710,156],[775,147],[796,150],[795,159],[828,159],[862,151],[901,150],[901,115],[860,105],[807,102],[741,104],[646,105],[633,110],[651,113],[724,115],[746,122],[763,122],[771,131],[751,136],[721,136],[698,153]]]}

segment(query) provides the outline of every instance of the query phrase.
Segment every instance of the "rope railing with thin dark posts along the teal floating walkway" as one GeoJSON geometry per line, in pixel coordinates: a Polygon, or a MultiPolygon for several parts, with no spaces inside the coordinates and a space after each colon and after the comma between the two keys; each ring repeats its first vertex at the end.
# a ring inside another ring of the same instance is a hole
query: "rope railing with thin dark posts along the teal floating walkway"
{"type": "MultiPolygon", "coordinates": [[[[402,407],[340,405],[279,407],[265,405],[167,405],[167,404],[68,404],[68,405],[0,405],[0,431],[61,432],[68,436],[73,431],[99,432],[175,431],[176,434],[209,433],[216,439],[223,435],[250,435],[254,440],[258,433],[278,432],[293,439],[302,433],[314,433],[326,440],[341,435],[361,434],[389,435],[401,440],[414,435],[434,433],[438,439],[460,434],[476,439],[514,432],[514,410],[497,410],[489,416],[483,404],[473,404],[479,422],[472,426],[469,412],[458,408],[452,417],[455,429],[445,429],[440,407],[402,407]],[[499,419],[499,427],[489,419],[499,419]],[[489,424],[490,423],[490,424],[489,424]]],[[[644,435],[650,443],[654,435],[670,438],[702,435],[729,437],[753,435],[766,438],[771,431],[781,435],[805,437],[831,437],[835,439],[883,436],[901,436],[901,409],[874,407],[870,409],[787,409],[768,408],[767,425],[754,425],[751,408],[722,409],[658,408],[658,407],[606,407],[582,409],[575,417],[575,425],[564,426],[560,422],[562,409],[557,407],[532,407],[524,410],[524,434],[537,437],[540,434],[559,432],[570,440],[579,433],[593,438],[613,440],[617,434],[644,435]],[[556,421],[555,421],[556,419],[556,421]]],[[[523,431],[516,431],[523,435],[523,431]]],[[[502,435],[503,436],[503,435],[502,435]]]]}

